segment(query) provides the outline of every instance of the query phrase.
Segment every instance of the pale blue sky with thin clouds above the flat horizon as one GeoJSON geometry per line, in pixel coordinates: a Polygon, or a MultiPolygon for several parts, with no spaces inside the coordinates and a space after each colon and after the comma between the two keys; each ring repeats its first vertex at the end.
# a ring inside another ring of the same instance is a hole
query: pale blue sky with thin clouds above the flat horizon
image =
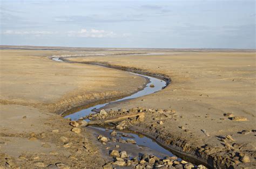
{"type": "Polygon", "coordinates": [[[255,49],[254,1],[0,0],[0,44],[255,49]]]}

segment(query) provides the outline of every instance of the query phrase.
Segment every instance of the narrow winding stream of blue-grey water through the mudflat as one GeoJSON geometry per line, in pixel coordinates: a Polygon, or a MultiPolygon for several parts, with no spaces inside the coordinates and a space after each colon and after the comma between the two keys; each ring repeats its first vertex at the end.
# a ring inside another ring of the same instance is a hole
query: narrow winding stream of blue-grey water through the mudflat
{"type": "MultiPolygon", "coordinates": [[[[64,62],[62,59],[60,59],[58,57],[52,58],[52,60],[55,60],[58,62],[64,62]]],[[[132,73],[132,72],[130,72],[130,73],[132,73]]],[[[145,95],[160,91],[160,90],[164,89],[164,87],[167,85],[167,83],[164,80],[161,80],[158,78],[140,75],[138,73],[132,73],[132,74],[137,75],[137,76],[142,76],[149,80],[149,83],[147,83],[147,85],[144,87],[143,90],[140,90],[140,91],[132,94],[131,96],[117,99],[112,102],[107,102],[104,104],[97,104],[95,106],[91,106],[89,108],[82,109],[80,111],[76,111],[75,113],[65,116],[65,118],[71,118],[71,120],[77,120],[81,117],[89,115],[90,113],[93,113],[92,110],[94,110],[94,109],[100,109],[110,103],[116,103],[116,102],[120,102],[120,101],[127,100],[127,99],[133,99],[133,98],[145,96],[145,95]],[[154,85],[154,87],[150,87],[150,85],[152,85],[152,84],[154,85]]],[[[96,132],[96,136],[97,136],[97,134],[102,134],[105,137],[109,137],[110,132],[112,131],[111,129],[102,128],[102,127],[98,127],[98,126],[88,126],[88,127],[91,130],[96,132]]],[[[137,142],[136,145],[127,144],[127,145],[125,145],[126,148],[124,149],[125,151],[127,151],[127,150],[130,151],[130,153],[134,154],[134,156],[136,156],[136,154],[138,155],[138,152],[139,153],[147,153],[147,154],[151,153],[158,157],[174,156],[169,150],[160,146],[158,143],[156,143],[156,141],[152,140],[151,138],[145,137],[138,133],[134,133],[132,131],[118,131],[118,133],[119,133],[119,135],[118,135],[119,138],[122,138],[122,139],[132,138],[132,139],[136,140],[136,142],[137,142]]],[[[111,145],[111,144],[113,144],[113,143],[109,143],[109,146],[112,146],[112,147],[115,146],[115,145],[111,145]]],[[[179,158],[178,160],[181,160],[181,159],[179,158]]]]}

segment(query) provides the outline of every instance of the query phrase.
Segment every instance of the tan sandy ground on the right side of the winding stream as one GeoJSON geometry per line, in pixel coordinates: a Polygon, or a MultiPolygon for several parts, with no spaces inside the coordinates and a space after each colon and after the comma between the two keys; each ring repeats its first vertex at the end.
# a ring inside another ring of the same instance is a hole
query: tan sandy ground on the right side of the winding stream
{"type": "Polygon", "coordinates": [[[151,134],[176,149],[188,153],[197,152],[206,160],[213,159],[212,162],[209,160],[209,163],[215,163],[212,165],[222,163],[223,167],[255,167],[255,51],[139,52],[166,55],[77,57],[69,60],[139,68],[171,77],[171,85],[163,91],[112,104],[107,108],[129,109],[139,106],[148,109],[173,109],[176,111],[173,118],[148,114],[147,120],[134,128],[151,134]],[[247,120],[230,120],[224,113],[242,116],[247,120]],[[159,120],[164,124],[158,125],[159,120]],[[206,136],[202,130],[210,136],[206,136]],[[249,133],[240,134],[242,130],[249,133]],[[232,143],[223,140],[227,134],[234,139],[232,143]],[[250,157],[251,162],[241,162],[244,154],[250,157]]]}

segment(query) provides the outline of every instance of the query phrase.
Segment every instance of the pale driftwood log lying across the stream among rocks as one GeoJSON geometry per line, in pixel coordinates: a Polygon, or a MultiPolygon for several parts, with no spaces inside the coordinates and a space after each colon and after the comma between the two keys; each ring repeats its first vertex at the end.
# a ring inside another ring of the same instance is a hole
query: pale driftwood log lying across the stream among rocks
{"type": "Polygon", "coordinates": [[[124,114],[124,115],[119,115],[119,116],[102,119],[102,120],[93,120],[93,121],[89,121],[88,124],[89,125],[100,125],[100,124],[107,124],[107,123],[116,123],[116,122],[119,122],[119,121],[122,121],[122,120],[125,120],[128,118],[132,118],[132,117],[138,117],[140,119],[143,119],[145,117],[145,112],[124,114]]]}

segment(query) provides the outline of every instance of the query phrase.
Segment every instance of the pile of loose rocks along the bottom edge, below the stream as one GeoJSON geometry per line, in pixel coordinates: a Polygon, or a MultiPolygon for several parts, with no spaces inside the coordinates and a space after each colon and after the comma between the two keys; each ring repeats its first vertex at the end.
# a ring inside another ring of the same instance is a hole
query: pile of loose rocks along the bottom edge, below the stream
{"type": "Polygon", "coordinates": [[[112,168],[113,165],[116,166],[131,166],[136,169],[144,169],[144,168],[180,168],[180,169],[191,169],[191,168],[206,168],[203,165],[194,166],[191,163],[188,163],[184,160],[178,160],[177,157],[164,157],[158,158],[153,154],[142,154],[139,157],[129,157],[127,152],[125,151],[117,151],[112,150],[110,152],[110,156],[113,157],[113,161],[110,163],[106,163],[103,168],[109,169],[112,168]]]}

